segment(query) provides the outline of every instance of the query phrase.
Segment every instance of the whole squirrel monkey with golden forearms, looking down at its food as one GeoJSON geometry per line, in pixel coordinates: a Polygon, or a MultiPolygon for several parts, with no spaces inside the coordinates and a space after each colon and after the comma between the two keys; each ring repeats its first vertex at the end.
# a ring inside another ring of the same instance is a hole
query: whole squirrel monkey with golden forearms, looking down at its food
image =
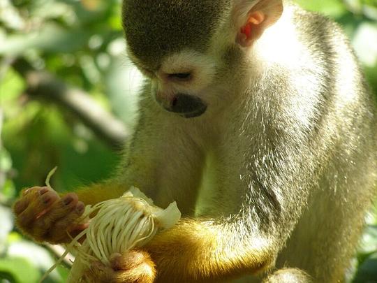
{"type": "Polygon", "coordinates": [[[134,185],[184,218],[92,282],[342,281],[374,195],[377,116],[338,25],[281,0],[124,0],[122,18],[145,86],[118,177],[27,189],[22,231],[66,242],[84,204],[134,185]]]}

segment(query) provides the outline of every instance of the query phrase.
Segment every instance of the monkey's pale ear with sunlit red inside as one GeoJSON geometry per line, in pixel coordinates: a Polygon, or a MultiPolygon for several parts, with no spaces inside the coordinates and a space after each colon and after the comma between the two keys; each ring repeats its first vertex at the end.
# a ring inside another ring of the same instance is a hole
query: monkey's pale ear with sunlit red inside
{"type": "Polygon", "coordinates": [[[233,3],[236,40],[244,47],[252,45],[283,13],[282,0],[235,0],[233,3]]]}

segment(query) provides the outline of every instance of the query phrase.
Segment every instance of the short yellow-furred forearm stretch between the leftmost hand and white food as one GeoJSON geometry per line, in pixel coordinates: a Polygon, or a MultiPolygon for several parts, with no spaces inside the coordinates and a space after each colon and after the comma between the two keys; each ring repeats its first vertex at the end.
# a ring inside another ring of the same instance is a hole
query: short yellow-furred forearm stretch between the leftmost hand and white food
{"type": "Polygon", "coordinates": [[[79,188],[75,193],[85,205],[94,205],[110,198],[119,198],[130,187],[116,182],[104,182],[79,188]]]}

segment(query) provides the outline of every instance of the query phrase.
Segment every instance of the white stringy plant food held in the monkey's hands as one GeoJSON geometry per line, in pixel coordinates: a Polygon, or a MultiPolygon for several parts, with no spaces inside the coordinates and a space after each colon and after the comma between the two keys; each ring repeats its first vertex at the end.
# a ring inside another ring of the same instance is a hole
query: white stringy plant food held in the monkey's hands
{"type": "Polygon", "coordinates": [[[119,198],[94,206],[87,205],[81,222],[89,220],[89,227],[77,235],[67,247],[67,252],[76,254],[67,282],[82,282],[84,270],[87,270],[93,261],[101,261],[110,266],[112,254],[126,254],[130,249],[142,247],[157,231],[174,226],[180,217],[177,203],[170,203],[168,208],[163,210],[135,187],[131,187],[119,198]],[[90,218],[94,212],[97,212],[96,216],[90,218]],[[84,235],[84,242],[77,242],[84,235]]]}

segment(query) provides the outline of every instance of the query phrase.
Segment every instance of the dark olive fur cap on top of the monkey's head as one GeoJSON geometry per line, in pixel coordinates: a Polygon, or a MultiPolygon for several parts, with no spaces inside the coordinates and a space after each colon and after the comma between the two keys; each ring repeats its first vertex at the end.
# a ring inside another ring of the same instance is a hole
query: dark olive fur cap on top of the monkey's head
{"type": "Polygon", "coordinates": [[[184,48],[205,51],[230,0],[124,0],[128,48],[149,68],[184,48]]]}

